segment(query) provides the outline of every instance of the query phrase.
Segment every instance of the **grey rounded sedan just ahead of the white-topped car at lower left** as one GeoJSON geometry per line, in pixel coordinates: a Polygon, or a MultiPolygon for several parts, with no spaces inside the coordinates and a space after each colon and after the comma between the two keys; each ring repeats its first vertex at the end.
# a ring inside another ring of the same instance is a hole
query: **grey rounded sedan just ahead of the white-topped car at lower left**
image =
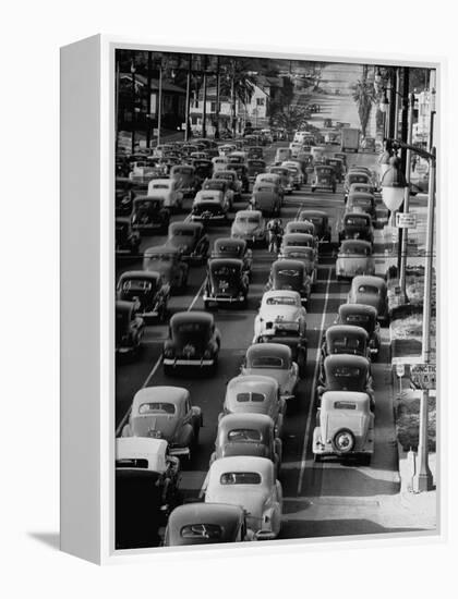
{"type": "Polygon", "coordinates": [[[202,426],[202,411],[191,404],[188,389],[144,387],[132,400],[121,436],[165,439],[170,455],[191,457],[202,426]]]}

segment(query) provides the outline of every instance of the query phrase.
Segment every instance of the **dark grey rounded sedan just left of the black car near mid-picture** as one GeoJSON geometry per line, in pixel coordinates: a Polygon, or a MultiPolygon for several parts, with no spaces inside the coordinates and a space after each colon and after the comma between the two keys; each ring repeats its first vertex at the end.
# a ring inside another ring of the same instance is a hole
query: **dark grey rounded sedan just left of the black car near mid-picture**
{"type": "Polygon", "coordinates": [[[181,258],[181,252],[168,245],[154,245],[143,254],[143,269],[159,272],[171,292],[183,293],[188,285],[189,265],[181,258]]]}

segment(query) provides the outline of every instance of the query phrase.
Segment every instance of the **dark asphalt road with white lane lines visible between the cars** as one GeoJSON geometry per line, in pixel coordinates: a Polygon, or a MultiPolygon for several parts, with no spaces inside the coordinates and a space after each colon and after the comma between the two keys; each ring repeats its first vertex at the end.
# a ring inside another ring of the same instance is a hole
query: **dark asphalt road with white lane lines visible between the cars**
{"type": "MultiPolygon", "coordinates": [[[[326,117],[327,110],[320,115],[326,117]]],[[[285,143],[276,144],[276,146],[285,143]]],[[[330,147],[329,151],[337,151],[330,147]]],[[[267,162],[273,158],[275,146],[266,151],[267,162]]],[[[350,163],[353,160],[349,160],[350,163]]],[[[355,155],[354,162],[374,164],[374,155],[355,155]]],[[[336,228],[343,211],[342,187],[337,193],[311,193],[310,186],[286,196],[281,210],[284,222],[294,219],[301,208],[325,209],[333,227],[333,241],[337,241],[336,228]]],[[[244,208],[249,196],[237,205],[244,208]]],[[[189,211],[190,201],[185,206],[189,211]]],[[[181,220],[185,213],[173,217],[181,220]]],[[[229,234],[229,227],[215,227],[208,230],[210,244],[218,236],[229,234]]],[[[141,250],[149,245],[159,245],[165,237],[156,235],[142,240],[141,250]]],[[[132,398],[142,387],[172,384],[185,387],[191,392],[194,404],[201,406],[204,414],[204,427],[201,430],[200,448],[191,462],[183,464],[181,488],[185,496],[198,494],[208,460],[214,450],[217,418],[225,398],[227,381],[239,374],[246,347],[253,338],[253,322],[257,313],[264,285],[267,282],[269,266],[274,259],[266,249],[253,252],[253,280],[250,285],[246,309],[218,309],[215,313],[217,326],[221,332],[221,351],[218,370],[212,378],[166,377],[162,372],[160,355],[167,326],[152,326],[144,337],[141,356],[132,363],[119,364],[116,377],[116,419],[122,424],[132,398]]],[[[398,491],[396,453],[390,407],[388,367],[386,346],[382,358],[374,366],[374,387],[376,392],[376,447],[370,467],[345,465],[338,461],[314,464],[311,453],[311,439],[315,425],[315,387],[318,341],[334,320],[338,306],[346,302],[349,283],[337,282],[335,278],[335,258],[332,254],[321,255],[317,284],[308,306],[309,357],[306,376],[299,386],[296,400],[288,404],[284,428],[284,461],[281,484],[285,496],[285,519],[281,537],[316,537],[338,534],[361,534],[361,524],[352,526],[353,514],[357,522],[364,522],[362,512],[376,506],[379,494],[398,491]],[[375,503],[374,503],[375,502],[375,503]],[[329,526],[329,516],[332,525],[329,526]]],[[[118,261],[118,273],[125,269],[142,268],[141,257],[118,261]]],[[[205,267],[192,267],[189,286],[184,295],[172,296],[169,303],[171,313],[180,310],[204,309],[202,283],[205,267]]],[[[383,331],[386,338],[386,330],[383,331]]],[[[386,339],[385,339],[386,341],[386,339]]],[[[370,522],[370,519],[367,521],[370,522]]],[[[373,531],[373,530],[367,530],[373,531]]]]}

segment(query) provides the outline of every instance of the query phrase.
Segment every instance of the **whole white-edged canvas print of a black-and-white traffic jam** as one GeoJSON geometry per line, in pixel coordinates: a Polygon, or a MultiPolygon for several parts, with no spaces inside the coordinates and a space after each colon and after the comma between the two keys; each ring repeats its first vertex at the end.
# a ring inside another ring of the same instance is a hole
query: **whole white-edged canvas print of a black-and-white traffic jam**
{"type": "Polygon", "coordinates": [[[441,537],[442,76],[62,48],[62,550],[441,537]]]}

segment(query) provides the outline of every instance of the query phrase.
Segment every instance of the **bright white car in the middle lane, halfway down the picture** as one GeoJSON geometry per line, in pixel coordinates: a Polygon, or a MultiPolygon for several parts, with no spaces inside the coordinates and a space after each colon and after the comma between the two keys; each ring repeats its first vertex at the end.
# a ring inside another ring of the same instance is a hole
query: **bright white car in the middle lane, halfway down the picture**
{"type": "Polygon", "coordinates": [[[305,328],[305,315],[306,310],[297,291],[266,291],[254,319],[253,343],[257,343],[260,337],[270,331],[274,334],[278,330],[297,331],[305,328]]]}

